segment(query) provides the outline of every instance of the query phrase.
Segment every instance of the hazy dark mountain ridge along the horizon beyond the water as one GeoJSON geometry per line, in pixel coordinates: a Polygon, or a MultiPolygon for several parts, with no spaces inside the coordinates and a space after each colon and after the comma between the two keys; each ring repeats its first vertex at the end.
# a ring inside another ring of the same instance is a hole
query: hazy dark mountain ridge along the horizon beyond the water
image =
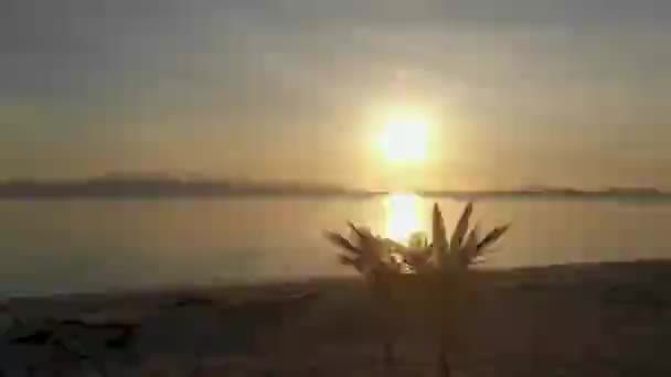
{"type": "MultiPolygon", "coordinates": [[[[656,187],[609,187],[578,190],[572,187],[525,187],[520,190],[489,191],[416,191],[423,196],[445,197],[658,197],[669,196],[656,187]]],[[[385,191],[351,190],[334,185],[296,182],[256,182],[217,180],[190,175],[173,177],[164,174],[109,174],[85,180],[36,181],[14,180],[0,182],[0,198],[151,198],[151,197],[217,197],[217,196],[372,196],[385,191]]]]}

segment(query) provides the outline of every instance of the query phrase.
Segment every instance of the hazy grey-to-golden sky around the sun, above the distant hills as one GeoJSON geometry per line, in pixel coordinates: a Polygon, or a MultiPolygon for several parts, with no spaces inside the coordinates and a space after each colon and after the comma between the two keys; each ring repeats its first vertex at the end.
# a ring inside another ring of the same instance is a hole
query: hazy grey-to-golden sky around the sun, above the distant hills
{"type": "Polygon", "coordinates": [[[671,187],[665,0],[1,0],[0,179],[671,187]],[[429,157],[375,150],[430,115],[429,157]]]}

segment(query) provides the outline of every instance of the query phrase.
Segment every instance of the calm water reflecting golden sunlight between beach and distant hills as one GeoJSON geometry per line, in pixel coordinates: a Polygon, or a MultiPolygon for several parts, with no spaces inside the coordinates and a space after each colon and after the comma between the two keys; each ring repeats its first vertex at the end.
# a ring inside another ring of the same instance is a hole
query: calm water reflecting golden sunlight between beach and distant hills
{"type": "MultiPolygon", "coordinates": [[[[438,201],[448,227],[462,202],[438,201]]],[[[345,220],[402,239],[433,200],[0,202],[0,295],[343,274],[322,230],[345,220]]],[[[487,267],[671,257],[671,205],[487,200],[481,227],[511,222],[487,267]]]]}

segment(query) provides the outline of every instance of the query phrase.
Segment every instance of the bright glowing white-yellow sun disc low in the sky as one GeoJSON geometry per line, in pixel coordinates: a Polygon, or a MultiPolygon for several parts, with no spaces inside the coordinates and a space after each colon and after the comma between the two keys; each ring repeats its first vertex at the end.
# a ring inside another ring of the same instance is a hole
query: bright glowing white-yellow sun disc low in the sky
{"type": "Polygon", "coordinates": [[[418,111],[398,110],[384,123],[380,147],[391,163],[418,163],[428,154],[428,119],[418,111]]]}

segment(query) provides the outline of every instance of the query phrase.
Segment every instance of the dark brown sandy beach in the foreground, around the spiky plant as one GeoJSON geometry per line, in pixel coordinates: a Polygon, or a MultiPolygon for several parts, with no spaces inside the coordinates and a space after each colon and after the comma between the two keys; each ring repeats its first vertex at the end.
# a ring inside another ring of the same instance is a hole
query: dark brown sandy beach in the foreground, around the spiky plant
{"type": "MultiPolygon", "coordinates": [[[[671,376],[671,263],[481,271],[476,280],[477,301],[454,353],[457,376],[671,376]]],[[[429,332],[390,330],[356,279],[15,299],[2,311],[6,376],[429,376],[434,370],[429,332]],[[10,314],[21,323],[12,324],[10,314]],[[380,343],[392,333],[398,347],[390,371],[380,343]]]]}

